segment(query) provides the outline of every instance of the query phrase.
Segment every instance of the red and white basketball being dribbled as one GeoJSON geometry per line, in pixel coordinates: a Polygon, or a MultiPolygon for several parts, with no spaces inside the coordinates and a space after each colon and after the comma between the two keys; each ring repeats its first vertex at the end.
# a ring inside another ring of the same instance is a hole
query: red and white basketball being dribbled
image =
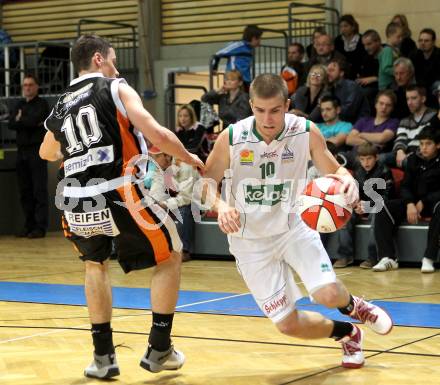
{"type": "Polygon", "coordinates": [[[351,217],[352,209],[339,192],[342,183],[335,178],[312,180],[299,196],[302,220],[313,230],[332,233],[343,227],[351,217]]]}

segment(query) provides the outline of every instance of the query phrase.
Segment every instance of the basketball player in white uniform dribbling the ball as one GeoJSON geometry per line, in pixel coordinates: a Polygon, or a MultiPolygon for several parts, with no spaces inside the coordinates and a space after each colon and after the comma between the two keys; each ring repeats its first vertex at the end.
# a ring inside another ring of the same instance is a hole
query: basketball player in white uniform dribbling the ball
{"type": "Polygon", "coordinates": [[[378,334],[391,331],[393,322],[384,310],[350,295],[336,279],[318,232],[294,210],[295,190],[301,191],[310,158],[322,175],[343,182],[350,204],[358,199],[356,183],[327,150],[315,124],[286,113],[283,79],[256,77],[250,99],[254,116],[224,130],[206,163],[205,181],[218,184],[225,176],[227,202],[205,185],[205,194],[210,191],[206,198],[212,199],[219,227],[228,234],[240,274],[279,331],[304,339],[333,338],[342,344],[342,366],[359,368],[364,364],[363,331],[350,322],[297,310],[302,295],[289,271],[290,266],[299,274],[315,302],[338,308],[378,334]]]}

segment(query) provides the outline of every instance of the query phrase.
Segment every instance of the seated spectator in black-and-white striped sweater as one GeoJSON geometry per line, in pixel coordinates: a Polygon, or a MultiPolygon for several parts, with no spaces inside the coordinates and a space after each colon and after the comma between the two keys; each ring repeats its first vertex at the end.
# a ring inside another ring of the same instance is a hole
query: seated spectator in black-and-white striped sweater
{"type": "Polygon", "coordinates": [[[391,167],[404,168],[403,162],[405,159],[419,148],[418,134],[425,126],[429,125],[430,120],[436,115],[435,110],[425,105],[426,90],[423,87],[408,87],[406,100],[411,115],[402,119],[399,123],[392,152],[395,158],[388,159],[388,165],[391,167]]]}

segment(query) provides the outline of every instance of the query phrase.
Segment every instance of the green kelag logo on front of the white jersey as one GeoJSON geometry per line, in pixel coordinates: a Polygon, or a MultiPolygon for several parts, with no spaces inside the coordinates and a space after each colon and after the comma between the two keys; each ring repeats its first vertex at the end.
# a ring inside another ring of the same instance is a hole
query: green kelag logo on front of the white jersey
{"type": "Polygon", "coordinates": [[[275,206],[289,200],[291,182],[244,186],[244,201],[249,205],[275,206]]]}

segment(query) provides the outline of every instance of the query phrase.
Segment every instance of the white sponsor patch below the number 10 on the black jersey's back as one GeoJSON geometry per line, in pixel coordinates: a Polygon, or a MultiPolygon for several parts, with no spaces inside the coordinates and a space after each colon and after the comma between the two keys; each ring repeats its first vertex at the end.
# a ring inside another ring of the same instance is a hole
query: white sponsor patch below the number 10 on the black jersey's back
{"type": "Polygon", "coordinates": [[[64,176],[87,170],[90,166],[111,163],[114,160],[113,145],[91,148],[85,154],[64,161],[64,176]]]}

